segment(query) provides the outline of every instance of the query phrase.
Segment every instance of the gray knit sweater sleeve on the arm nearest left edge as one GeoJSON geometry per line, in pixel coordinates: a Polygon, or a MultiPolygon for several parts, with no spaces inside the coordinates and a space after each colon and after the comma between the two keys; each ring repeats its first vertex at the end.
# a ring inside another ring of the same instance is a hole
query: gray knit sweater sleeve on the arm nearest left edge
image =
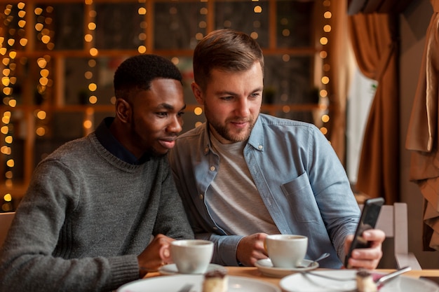
{"type": "Polygon", "coordinates": [[[66,259],[60,230],[79,193],[77,177],[62,163],[36,168],[0,250],[0,292],[109,291],[139,278],[136,256],[66,259]]]}

